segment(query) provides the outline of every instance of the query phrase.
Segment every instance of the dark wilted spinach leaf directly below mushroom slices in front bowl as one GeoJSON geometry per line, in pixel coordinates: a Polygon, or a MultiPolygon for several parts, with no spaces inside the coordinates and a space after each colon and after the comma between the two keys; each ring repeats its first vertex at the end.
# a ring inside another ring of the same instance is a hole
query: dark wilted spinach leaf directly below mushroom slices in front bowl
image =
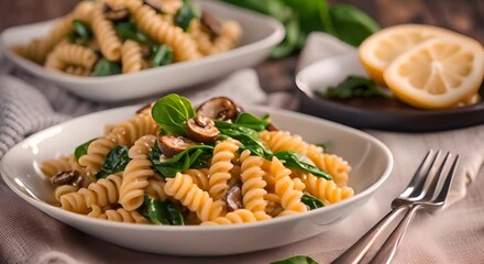
{"type": "Polygon", "coordinates": [[[175,177],[177,173],[185,172],[190,167],[200,168],[206,167],[208,161],[212,156],[213,146],[210,145],[195,145],[191,146],[175,156],[161,162],[160,151],[157,144],[154,145],[150,153],[150,161],[153,163],[153,167],[162,174],[164,177],[175,177]]]}

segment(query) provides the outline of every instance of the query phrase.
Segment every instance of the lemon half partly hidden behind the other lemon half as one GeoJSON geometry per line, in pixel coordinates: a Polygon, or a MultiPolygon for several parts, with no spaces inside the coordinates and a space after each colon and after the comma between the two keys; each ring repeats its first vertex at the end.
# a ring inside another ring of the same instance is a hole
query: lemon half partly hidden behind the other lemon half
{"type": "Polygon", "coordinates": [[[433,25],[402,24],[369,36],[359,47],[359,57],[370,77],[384,85],[383,72],[402,53],[429,38],[458,33],[433,25]]]}

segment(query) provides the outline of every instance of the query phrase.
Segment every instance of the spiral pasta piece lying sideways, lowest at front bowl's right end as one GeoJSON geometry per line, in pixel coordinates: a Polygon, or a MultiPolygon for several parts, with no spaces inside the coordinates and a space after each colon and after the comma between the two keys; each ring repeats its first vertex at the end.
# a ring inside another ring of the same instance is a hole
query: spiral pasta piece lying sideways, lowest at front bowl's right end
{"type": "Polygon", "coordinates": [[[354,195],[351,187],[338,187],[333,180],[316,177],[312,174],[307,174],[302,178],[302,183],[306,185],[306,191],[324,201],[326,205],[348,199],[354,195]]]}

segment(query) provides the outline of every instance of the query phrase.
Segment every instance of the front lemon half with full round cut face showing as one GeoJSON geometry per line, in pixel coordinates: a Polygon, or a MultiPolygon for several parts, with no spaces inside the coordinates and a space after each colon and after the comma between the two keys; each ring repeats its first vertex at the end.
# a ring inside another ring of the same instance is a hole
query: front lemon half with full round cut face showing
{"type": "Polygon", "coordinates": [[[466,36],[438,36],[394,58],[384,72],[388,88],[410,106],[454,107],[480,89],[484,48],[466,36]]]}

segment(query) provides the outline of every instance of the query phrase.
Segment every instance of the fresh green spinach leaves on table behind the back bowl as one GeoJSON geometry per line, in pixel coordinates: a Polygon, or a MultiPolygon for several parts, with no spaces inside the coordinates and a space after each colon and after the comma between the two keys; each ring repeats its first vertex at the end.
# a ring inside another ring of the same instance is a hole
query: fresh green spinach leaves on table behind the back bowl
{"type": "Polygon", "coordinates": [[[282,58],[299,51],[315,31],[327,32],[358,46],[380,26],[366,13],[349,4],[329,4],[326,0],[223,0],[273,16],[286,28],[286,36],[271,53],[282,58]]]}

